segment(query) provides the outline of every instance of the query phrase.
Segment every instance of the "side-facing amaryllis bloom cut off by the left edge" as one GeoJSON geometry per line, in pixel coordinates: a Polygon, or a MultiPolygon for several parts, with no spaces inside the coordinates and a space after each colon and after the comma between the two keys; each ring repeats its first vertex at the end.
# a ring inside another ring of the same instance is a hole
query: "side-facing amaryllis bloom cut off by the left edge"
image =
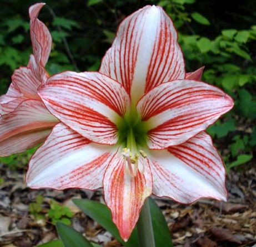
{"type": "Polygon", "coordinates": [[[44,66],[51,52],[52,37],[38,18],[44,3],[29,8],[33,54],[26,67],[14,71],[7,94],[0,97],[0,156],[22,152],[41,143],[58,120],[37,94],[49,77],[44,66]]]}

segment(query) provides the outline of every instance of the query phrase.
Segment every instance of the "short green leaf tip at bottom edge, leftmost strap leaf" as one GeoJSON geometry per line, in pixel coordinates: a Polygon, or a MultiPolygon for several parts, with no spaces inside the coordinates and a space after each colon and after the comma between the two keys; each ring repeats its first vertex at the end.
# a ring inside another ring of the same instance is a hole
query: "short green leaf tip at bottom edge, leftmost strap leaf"
{"type": "Polygon", "coordinates": [[[83,237],[81,233],[72,227],[57,222],[56,228],[65,247],[93,247],[93,245],[83,237]]]}

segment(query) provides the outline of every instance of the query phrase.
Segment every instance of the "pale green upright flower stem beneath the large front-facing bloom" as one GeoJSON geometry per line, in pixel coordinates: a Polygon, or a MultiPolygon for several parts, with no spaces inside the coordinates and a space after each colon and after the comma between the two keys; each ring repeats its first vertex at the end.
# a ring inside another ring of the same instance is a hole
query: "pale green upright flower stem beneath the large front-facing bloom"
{"type": "Polygon", "coordinates": [[[140,247],[155,247],[149,200],[146,199],[137,223],[140,247]]]}

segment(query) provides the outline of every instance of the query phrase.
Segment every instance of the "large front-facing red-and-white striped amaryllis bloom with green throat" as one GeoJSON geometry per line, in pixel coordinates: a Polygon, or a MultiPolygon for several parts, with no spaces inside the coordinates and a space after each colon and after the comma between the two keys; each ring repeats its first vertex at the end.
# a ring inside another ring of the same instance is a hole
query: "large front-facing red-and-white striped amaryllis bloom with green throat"
{"type": "Polygon", "coordinates": [[[233,100],[191,80],[198,71],[185,76],[177,32],[163,9],[133,13],[99,73],[66,71],[38,91],[61,123],[32,157],[28,186],[103,187],[124,240],[150,194],[180,203],[225,200],[223,162],[204,130],[233,100]]]}

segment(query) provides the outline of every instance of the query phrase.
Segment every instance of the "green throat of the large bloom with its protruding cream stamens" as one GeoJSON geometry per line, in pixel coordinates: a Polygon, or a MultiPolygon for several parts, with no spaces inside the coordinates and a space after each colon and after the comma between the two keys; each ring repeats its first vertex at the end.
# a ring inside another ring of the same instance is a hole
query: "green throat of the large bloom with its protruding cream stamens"
{"type": "Polygon", "coordinates": [[[147,150],[147,130],[137,111],[131,110],[124,116],[118,124],[118,136],[118,145],[123,147],[122,155],[126,173],[131,177],[135,177],[138,171],[144,173],[144,162],[147,157],[144,151],[147,150]]]}

